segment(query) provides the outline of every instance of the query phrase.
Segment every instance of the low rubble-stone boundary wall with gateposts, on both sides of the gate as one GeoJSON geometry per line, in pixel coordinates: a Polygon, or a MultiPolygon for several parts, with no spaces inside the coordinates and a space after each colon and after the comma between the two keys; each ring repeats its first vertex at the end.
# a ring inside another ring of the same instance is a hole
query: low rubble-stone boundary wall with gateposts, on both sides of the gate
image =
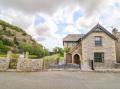
{"type": "MultiPolygon", "coordinates": [[[[43,59],[28,59],[28,53],[20,55],[17,61],[16,71],[41,71],[43,68],[43,59]]],[[[0,58],[0,71],[9,69],[11,52],[8,52],[6,58],[0,58]]]]}

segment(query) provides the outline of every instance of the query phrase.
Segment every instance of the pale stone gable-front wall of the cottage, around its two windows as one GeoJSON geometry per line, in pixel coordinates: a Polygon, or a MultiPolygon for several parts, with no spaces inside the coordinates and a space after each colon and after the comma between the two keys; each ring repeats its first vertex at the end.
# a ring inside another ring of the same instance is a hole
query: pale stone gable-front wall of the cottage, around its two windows
{"type": "Polygon", "coordinates": [[[116,63],[115,40],[103,32],[93,32],[82,41],[82,59],[85,68],[88,60],[94,60],[94,52],[104,52],[104,63],[95,63],[96,68],[112,68],[116,63]],[[95,46],[95,36],[102,36],[102,46],[95,46]]]}

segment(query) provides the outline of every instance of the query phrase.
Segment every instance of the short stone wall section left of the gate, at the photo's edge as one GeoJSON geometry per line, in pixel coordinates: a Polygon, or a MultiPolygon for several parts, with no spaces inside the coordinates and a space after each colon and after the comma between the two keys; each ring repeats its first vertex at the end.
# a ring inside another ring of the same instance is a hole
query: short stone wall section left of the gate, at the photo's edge
{"type": "Polygon", "coordinates": [[[9,68],[9,62],[8,58],[0,58],[0,71],[6,71],[9,68]]]}

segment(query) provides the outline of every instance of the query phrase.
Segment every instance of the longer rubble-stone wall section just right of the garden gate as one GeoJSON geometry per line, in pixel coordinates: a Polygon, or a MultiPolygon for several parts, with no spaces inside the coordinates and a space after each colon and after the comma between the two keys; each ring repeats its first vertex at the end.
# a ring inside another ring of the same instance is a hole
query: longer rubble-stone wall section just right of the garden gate
{"type": "Polygon", "coordinates": [[[42,59],[27,59],[20,57],[17,63],[17,71],[42,71],[42,59]]]}

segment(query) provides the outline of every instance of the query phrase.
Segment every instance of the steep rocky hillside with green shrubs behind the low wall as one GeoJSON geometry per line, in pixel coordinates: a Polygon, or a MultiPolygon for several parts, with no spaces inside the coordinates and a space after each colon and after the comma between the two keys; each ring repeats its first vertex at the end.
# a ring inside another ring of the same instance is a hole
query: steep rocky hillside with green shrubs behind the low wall
{"type": "Polygon", "coordinates": [[[9,50],[14,53],[28,51],[39,57],[44,55],[43,46],[33,40],[23,29],[0,20],[0,53],[7,53],[9,50]]]}

